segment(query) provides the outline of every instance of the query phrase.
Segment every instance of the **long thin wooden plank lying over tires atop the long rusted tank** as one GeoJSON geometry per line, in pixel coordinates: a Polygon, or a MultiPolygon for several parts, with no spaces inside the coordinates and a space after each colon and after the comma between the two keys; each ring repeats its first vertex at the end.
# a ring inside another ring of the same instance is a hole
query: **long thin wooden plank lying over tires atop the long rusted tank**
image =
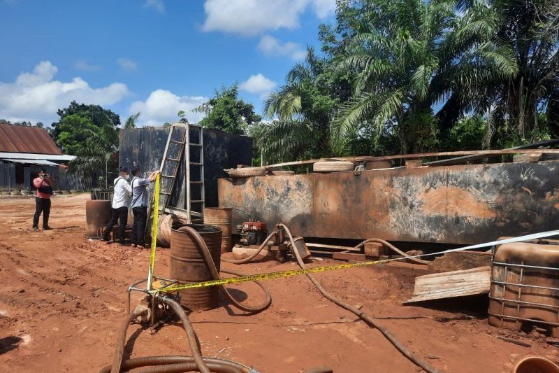
{"type": "MultiPolygon", "coordinates": [[[[525,154],[525,153],[534,153],[534,154],[559,154],[558,149],[502,149],[502,150],[458,150],[453,152],[437,152],[437,153],[417,153],[417,154],[400,154],[400,155],[384,155],[374,157],[371,155],[366,156],[359,156],[359,157],[334,157],[334,158],[319,158],[314,160],[298,160],[293,162],[283,162],[283,163],[276,163],[276,164],[268,164],[264,166],[266,171],[270,171],[275,168],[285,167],[285,166],[299,166],[303,164],[313,164],[316,162],[326,161],[326,160],[342,160],[346,162],[369,162],[369,161],[376,161],[376,160],[406,160],[406,159],[413,159],[413,158],[423,158],[423,157],[449,157],[449,156],[458,156],[458,155],[476,155],[481,158],[491,157],[491,156],[498,156],[498,155],[507,155],[507,154],[525,154]]],[[[442,165],[440,162],[437,161],[438,165],[442,165]]],[[[427,164],[427,163],[426,163],[427,164]]],[[[435,162],[429,162],[429,165],[435,165],[435,162]]]]}

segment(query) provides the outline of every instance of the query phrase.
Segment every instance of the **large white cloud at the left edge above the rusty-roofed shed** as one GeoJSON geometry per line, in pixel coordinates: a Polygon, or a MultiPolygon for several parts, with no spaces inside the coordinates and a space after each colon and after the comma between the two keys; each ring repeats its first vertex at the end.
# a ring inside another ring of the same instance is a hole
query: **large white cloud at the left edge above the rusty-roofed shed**
{"type": "Polygon", "coordinates": [[[123,83],[92,88],[79,77],[69,82],[52,80],[57,72],[57,66],[42,61],[32,73],[20,73],[15,82],[0,82],[0,118],[48,123],[56,120],[57,110],[68,106],[72,100],[107,106],[129,94],[123,83]]]}

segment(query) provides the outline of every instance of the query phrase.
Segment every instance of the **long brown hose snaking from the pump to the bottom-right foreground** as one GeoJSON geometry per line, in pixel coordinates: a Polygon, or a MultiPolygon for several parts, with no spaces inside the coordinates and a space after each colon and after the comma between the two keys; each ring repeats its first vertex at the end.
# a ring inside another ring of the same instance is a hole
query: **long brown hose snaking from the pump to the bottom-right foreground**
{"type": "MultiPolygon", "coordinates": [[[[291,247],[295,248],[296,247],[295,242],[293,241],[293,236],[291,236],[291,232],[289,231],[289,228],[286,227],[286,225],[284,225],[284,224],[278,224],[278,226],[282,227],[285,230],[287,236],[289,237],[289,241],[291,241],[291,247]]],[[[302,269],[305,269],[306,268],[305,263],[301,259],[298,251],[293,250],[293,254],[297,258],[297,262],[299,263],[299,267],[301,267],[302,269]]],[[[398,349],[398,351],[400,351],[400,353],[402,353],[406,358],[408,358],[410,361],[412,361],[412,363],[414,363],[415,365],[423,368],[423,370],[425,370],[428,373],[438,373],[439,372],[438,370],[435,369],[435,367],[433,367],[430,364],[426,363],[425,361],[421,360],[420,358],[415,356],[414,353],[409,351],[406,346],[401,344],[400,341],[398,341],[398,339],[396,339],[394,337],[394,335],[390,332],[390,330],[388,330],[384,327],[384,325],[382,325],[381,323],[378,323],[374,319],[370,318],[370,316],[367,316],[367,314],[365,314],[365,312],[359,311],[356,307],[353,307],[350,304],[344,303],[341,300],[334,297],[333,295],[331,295],[330,293],[328,293],[326,290],[324,290],[324,288],[321,286],[319,281],[317,281],[317,279],[314,279],[314,276],[312,276],[312,274],[307,274],[307,277],[310,279],[310,281],[312,281],[312,283],[314,283],[314,286],[317,287],[319,292],[322,293],[322,295],[324,295],[324,297],[326,297],[328,300],[331,300],[331,302],[334,302],[338,306],[340,306],[344,309],[347,309],[347,311],[353,312],[354,314],[356,314],[356,316],[358,316],[363,321],[368,323],[368,325],[372,326],[373,328],[376,328],[377,330],[379,330],[379,332],[382,332],[382,335],[384,335],[384,337],[386,337],[386,339],[388,339],[393,344],[393,346],[395,346],[395,348],[398,349]]]]}

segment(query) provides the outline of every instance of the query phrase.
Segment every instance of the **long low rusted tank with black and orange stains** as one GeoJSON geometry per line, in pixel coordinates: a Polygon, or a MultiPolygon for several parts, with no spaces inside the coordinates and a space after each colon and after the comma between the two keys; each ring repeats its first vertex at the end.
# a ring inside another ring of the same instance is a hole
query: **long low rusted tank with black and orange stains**
{"type": "MultiPolygon", "coordinates": [[[[219,179],[219,206],[303,237],[479,244],[556,229],[559,162],[219,179]]],[[[233,226],[241,224],[233,214],[233,226]]],[[[239,216],[241,218],[241,216],[239,216]]]]}

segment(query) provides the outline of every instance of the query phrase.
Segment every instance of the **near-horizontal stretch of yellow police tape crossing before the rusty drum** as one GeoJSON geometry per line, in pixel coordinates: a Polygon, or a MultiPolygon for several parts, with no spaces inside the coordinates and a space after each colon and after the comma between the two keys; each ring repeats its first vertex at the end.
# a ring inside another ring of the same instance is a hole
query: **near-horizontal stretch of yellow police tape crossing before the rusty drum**
{"type": "Polygon", "coordinates": [[[372,260],[369,262],[360,262],[360,263],[352,263],[346,265],[328,265],[326,267],[315,267],[315,268],[307,268],[307,269],[291,269],[289,271],[280,271],[280,272],[268,272],[265,274],[249,274],[247,276],[238,276],[238,277],[231,277],[229,279],[219,279],[219,280],[210,280],[210,281],[203,281],[203,282],[194,282],[194,283],[184,283],[182,285],[171,285],[165,286],[159,289],[150,290],[150,293],[159,293],[159,292],[173,292],[177,290],[184,290],[184,289],[193,289],[193,288],[205,288],[208,286],[219,286],[219,285],[231,285],[232,283],[243,283],[249,281],[258,281],[258,280],[271,280],[271,279],[279,279],[282,277],[290,277],[290,276],[299,276],[300,274],[310,274],[310,273],[317,273],[317,272],[326,272],[326,271],[333,271],[334,269],[346,269],[346,268],[354,268],[354,267],[363,267],[365,265],[378,265],[386,262],[390,262],[391,260],[372,260]]]}

